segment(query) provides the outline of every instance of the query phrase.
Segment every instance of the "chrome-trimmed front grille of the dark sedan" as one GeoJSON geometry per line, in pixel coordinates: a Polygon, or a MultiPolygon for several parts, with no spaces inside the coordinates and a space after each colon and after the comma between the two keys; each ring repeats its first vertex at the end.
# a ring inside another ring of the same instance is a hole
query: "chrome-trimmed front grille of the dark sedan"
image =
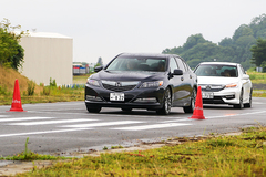
{"type": "Polygon", "coordinates": [[[105,90],[113,92],[124,92],[136,87],[139,81],[134,82],[116,82],[116,81],[102,81],[102,85],[105,90]]]}

